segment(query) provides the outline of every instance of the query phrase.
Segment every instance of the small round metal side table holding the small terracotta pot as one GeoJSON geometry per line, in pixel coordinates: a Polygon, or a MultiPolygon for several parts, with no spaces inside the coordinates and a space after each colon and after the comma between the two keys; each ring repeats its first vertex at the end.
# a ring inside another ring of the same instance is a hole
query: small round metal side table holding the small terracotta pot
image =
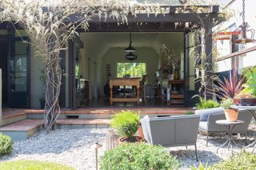
{"type": "Polygon", "coordinates": [[[244,121],[226,121],[226,120],[218,120],[216,121],[216,124],[218,125],[224,125],[226,127],[226,130],[227,130],[227,139],[226,139],[226,142],[222,145],[220,145],[218,148],[217,148],[217,153],[218,153],[218,149],[221,148],[222,146],[224,146],[226,143],[228,143],[227,147],[228,147],[228,150],[230,150],[231,148],[231,154],[233,156],[233,146],[232,146],[232,143],[236,144],[233,140],[233,137],[232,137],[232,132],[233,132],[233,129],[234,129],[234,126],[235,125],[240,125],[240,124],[243,124],[245,123],[244,121]]]}

